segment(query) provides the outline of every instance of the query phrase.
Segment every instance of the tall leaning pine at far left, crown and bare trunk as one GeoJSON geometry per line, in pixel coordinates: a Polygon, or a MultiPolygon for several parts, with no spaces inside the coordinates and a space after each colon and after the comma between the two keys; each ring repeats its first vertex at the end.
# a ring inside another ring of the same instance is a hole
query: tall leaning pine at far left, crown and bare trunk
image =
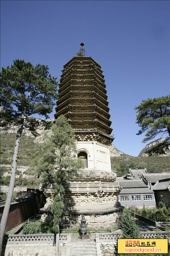
{"type": "Polygon", "coordinates": [[[15,60],[11,67],[2,68],[0,72],[1,126],[10,128],[11,125],[15,125],[18,127],[11,180],[0,224],[0,248],[2,248],[3,234],[14,191],[21,134],[23,129],[27,128],[35,135],[37,126],[43,125],[42,120],[40,122],[40,119],[35,119],[31,115],[39,114],[45,118],[49,117],[48,113],[51,113],[55,104],[54,100],[57,99],[56,79],[49,74],[48,66],[37,64],[34,67],[30,62],[26,63],[19,59],[15,60]]]}

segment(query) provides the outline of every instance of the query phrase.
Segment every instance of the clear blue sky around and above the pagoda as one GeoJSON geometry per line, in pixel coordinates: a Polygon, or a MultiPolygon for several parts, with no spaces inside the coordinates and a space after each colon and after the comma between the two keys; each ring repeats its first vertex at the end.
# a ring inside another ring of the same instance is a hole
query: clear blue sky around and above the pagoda
{"type": "Polygon", "coordinates": [[[114,144],[133,156],[146,145],[134,107],[170,93],[169,36],[169,1],[1,1],[1,66],[45,64],[59,81],[84,42],[104,70],[114,144]]]}

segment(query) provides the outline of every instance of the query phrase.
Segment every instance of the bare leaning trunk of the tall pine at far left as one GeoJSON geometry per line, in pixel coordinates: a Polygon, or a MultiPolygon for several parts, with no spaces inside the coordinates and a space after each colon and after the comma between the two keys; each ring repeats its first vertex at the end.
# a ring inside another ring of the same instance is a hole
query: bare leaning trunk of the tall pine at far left
{"type": "Polygon", "coordinates": [[[17,156],[18,156],[18,149],[19,149],[19,145],[20,145],[20,138],[21,138],[21,134],[23,132],[23,123],[24,123],[24,114],[22,114],[22,116],[21,116],[20,128],[17,131],[13,161],[12,161],[11,180],[10,180],[10,184],[9,184],[8,195],[6,198],[6,204],[5,204],[5,207],[3,210],[3,215],[2,215],[2,219],[1,219],[1,223],[0,223],[0,255],[2,253],[3,236],[5,233],[5,229],[6,229],[6,221],[8,218],[12,195],[14,192],[14,183],[15,183],[15,176],[16,176],[16,171],[17,171],[17,156]]]}

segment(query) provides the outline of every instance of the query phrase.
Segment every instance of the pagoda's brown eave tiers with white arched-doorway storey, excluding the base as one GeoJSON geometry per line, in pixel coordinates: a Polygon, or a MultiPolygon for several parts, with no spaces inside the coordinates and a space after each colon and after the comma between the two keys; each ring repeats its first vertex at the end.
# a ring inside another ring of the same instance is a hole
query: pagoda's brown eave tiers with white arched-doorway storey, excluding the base
{"type": "Polygon", "coordinates": [[[62,70],[55,118],[63,114],[74,128],[78,151],[87,154],[85,167],[111,172],[113,136],[105,87],[101,67],[94,59],[72,58],[62,70]]]}

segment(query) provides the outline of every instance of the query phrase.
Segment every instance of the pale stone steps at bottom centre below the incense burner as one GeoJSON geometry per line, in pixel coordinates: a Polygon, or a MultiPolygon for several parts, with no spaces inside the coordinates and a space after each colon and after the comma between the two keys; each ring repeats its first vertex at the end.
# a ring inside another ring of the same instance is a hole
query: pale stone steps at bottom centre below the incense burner
{"type": "Polygon", "coordinates": [[[97,256],[96,243],[71,243],[70,256],[97,256]]]}

